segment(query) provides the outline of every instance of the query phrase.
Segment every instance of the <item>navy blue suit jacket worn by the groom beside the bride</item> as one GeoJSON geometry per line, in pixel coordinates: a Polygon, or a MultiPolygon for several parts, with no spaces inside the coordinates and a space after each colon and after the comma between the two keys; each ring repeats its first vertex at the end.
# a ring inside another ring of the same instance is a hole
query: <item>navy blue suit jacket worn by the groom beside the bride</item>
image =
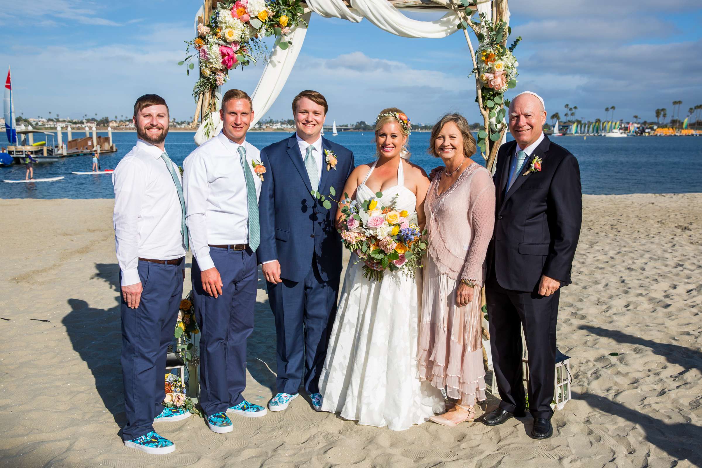
{"type": "MultiPolygon", "coordinates": [[[[329,196],[329,187],[334,187],[333,198],[339,200],[354,169],[353,153],[326,138],[322,138],[322,149],[333,151],[337,163],[336,169],[329,171],[323,163],[317,191],[329,196]]],[[[266,173],[258,202],[258,262],[278,260],[281,278],[303,281],[316,253],[322,280],[338,282],[342,255],[341,238],[334,225],[338,203],[332,201],[327,210],[310,194],[310,178],[294,134],[263,148],[260,156],[266,173]]]]}

